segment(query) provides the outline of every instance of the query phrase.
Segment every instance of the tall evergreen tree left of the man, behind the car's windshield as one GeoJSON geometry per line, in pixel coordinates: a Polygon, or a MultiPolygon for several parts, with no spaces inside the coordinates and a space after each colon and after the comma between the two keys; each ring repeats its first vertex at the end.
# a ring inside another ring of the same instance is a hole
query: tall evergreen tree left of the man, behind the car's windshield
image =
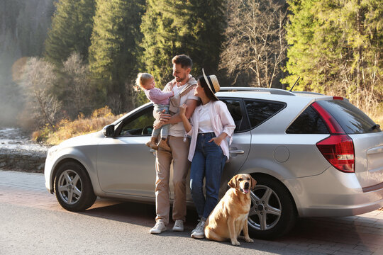
{"type": "Polygon", "coordinates": [[[138,42],[144,0],[96,1],[89,65],[102,83],[106,103],[114,113],[133,108],[128,97],[138,70],[138,42]]]}

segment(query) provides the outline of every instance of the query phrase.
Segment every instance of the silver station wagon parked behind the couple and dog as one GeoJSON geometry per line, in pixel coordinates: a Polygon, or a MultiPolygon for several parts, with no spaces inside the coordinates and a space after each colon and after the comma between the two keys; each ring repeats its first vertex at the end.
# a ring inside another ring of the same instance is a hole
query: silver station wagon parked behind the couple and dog
{"type": "MultiPolygon", "coordinates": [[[[347,99],[258,88],[222,88],[216,95],[236,125],[220,195],[235,174],[257,180],[248,220],[253,237],[286,234],[296,217],[383,206],[383,132],[347,99]]],[[[155,151],[145,146],[153,120],[147,103],[99,132],[52,147],[48,191],[72,211],[89,208],[97,196],[154,203],[155,151]]],[[[187,200],[193,205],[189,191],[187,200]]]]}

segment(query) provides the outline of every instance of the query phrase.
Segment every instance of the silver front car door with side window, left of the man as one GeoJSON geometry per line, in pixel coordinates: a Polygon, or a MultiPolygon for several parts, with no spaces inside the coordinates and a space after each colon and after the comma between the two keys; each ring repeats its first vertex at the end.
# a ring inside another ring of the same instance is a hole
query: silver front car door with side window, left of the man
{"type": "Polygon", "coordinates": [[[145,145],[152,132],[152,105],[128,115],[116,125],[115,137],[105,137],[97,150],[97,171],[106,193],[155,197],[155,155],[145,145]]]}

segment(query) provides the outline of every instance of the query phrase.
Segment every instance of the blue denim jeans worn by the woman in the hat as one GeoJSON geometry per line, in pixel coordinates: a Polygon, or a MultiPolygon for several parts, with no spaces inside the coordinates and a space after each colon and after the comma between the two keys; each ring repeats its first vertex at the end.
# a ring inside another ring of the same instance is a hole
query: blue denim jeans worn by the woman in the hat
{"type": "Polygon", "coordinates": [[[213,132],[198,135],[190,170],[191,197],[199,217],[204,220],[218,203],[221,175],[226,162],[221,146],[213,141],[209,142],[213,137],[216,137],[213,132]],[[203,190],[204,178],[206,198],[203,190]]]}

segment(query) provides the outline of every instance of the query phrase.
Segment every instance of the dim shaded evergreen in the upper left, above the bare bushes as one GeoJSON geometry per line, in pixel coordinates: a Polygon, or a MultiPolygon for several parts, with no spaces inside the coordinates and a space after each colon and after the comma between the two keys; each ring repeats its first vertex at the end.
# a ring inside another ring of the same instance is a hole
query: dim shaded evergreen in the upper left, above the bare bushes
{"type": "Polygon", "coordinates": [[[58,66],[72,52],[88,58],[95,0],[61,0],[55,2],[52,28],[45,40],[45,57],[58,66]]]}

